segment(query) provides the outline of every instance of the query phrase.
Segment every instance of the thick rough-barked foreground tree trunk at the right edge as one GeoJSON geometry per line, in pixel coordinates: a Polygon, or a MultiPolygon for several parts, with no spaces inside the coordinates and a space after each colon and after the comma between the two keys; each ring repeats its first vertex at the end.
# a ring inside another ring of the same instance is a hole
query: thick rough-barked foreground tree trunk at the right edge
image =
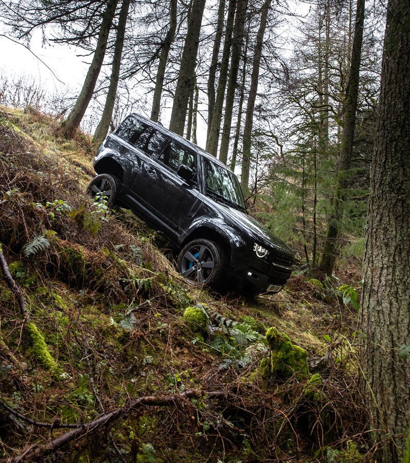
{"type": "Polygon", "coordinates": [[[371,170],[361,326],[362,388],[383,463],[410,423],[410,3],[389,0],[371,170]]]}

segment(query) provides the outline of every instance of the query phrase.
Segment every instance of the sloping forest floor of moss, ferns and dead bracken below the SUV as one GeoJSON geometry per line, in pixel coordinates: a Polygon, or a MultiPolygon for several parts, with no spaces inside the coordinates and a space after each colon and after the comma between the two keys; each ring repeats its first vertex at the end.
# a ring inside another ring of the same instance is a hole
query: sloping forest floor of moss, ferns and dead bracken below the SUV
{"type": "Polygon", "coordinates": [[[87,198],[94,152],[58,120],[0,107],[16,283],[0,273],[0,459],[373,461],[357,311],[338,290],[360,286],[359,262],[327,287],[295,269],[254,301],[190,285],[153,230],[87,198]]]}

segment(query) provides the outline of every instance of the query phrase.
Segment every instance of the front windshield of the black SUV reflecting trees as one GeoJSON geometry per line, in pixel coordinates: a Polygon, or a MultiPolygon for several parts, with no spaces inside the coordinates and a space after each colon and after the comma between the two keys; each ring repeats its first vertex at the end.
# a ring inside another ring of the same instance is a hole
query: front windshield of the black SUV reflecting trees
{"type": "Polygon", "coordinates": [[[224,167],[205,157],[203,162],[205,164],[207,193],[214,194],[220,199],[246,210],[236,176],[228,169],[224,169],[224,167]]]}

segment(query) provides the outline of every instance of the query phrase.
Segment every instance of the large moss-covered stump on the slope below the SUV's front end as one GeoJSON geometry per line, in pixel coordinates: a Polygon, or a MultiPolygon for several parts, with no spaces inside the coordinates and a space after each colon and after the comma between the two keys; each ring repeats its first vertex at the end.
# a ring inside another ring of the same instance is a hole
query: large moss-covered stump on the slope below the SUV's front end
{"type": "Polygon", "coordinates": [[[292,344],[289,336],[275,327],[268,329],[266,338],[271,352],[260,365],[264,376],[290,377],[295,374],[298,380],[308,377],[308,353],[302,347],[292,344]]]}

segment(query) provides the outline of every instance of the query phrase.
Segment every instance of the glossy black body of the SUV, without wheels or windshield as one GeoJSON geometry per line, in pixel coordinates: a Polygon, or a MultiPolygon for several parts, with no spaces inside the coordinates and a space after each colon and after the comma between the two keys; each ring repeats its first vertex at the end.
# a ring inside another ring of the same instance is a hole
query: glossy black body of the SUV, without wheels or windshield
{"type": "Polygon", "coordinates": [[[229,264],[227,282],[236,289],[263,292],[269,285],[283,286],[292,272],[291,249],[245,208],[207,194],[204,159],[227,170],[195,144],[132,114],[107,136],[94,159],[94,169],[97,174],[118,177],[118,199],[178,248],[196,238],[218,242],[229,264]],[[136,138],[137,146],[133,144],[136,138]],[[181,176],[179,163],[191,164],[181,176]],[[258,258],[254,243],[267,249],[268,256],[258,258]]]}

